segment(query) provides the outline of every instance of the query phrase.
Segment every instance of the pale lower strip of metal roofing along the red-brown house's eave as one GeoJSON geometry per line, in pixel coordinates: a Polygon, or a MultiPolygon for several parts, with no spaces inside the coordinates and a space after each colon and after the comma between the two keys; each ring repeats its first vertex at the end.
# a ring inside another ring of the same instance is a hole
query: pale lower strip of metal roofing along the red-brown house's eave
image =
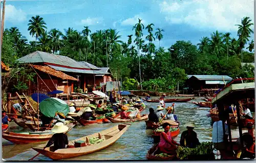
{"type": "Polygon", "coordinates": [[[86,74],[110,74],[110,73],[105,73],[100,70],[81,70],[81,69],[73,69],[73,68],[66,68],[66,67],[59,67],[59,66],[52,66],[48,65],[55,70],[58,71],[65,71],[65,72],[74,72],[74,73],[86,73],[86,74]]]}

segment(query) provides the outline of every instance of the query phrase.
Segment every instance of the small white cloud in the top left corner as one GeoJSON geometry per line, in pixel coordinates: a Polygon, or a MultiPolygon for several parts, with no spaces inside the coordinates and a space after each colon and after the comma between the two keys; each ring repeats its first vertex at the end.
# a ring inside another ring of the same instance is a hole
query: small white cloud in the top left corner
{"type": "Polygon", "coordinates": [[[27,14],[21,9],[16,9],[15,6],[5,6],[5,20],[10,22],[22,22],[27,18],[27,14]]]}

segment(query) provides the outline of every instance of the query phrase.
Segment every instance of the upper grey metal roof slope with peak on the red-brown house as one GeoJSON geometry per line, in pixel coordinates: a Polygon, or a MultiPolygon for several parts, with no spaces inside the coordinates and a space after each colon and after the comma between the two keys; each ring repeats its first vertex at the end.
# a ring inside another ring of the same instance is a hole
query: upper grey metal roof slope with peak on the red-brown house
{"type": "Polygon", "coordinates": [[[54,55],[52,53],[42,51],[32,52],[29,55],[18,59],[18,61],[21,63],[51,63],[75,68],[90,68],[86,65],[79,64],[69,57],[54,55]]]}

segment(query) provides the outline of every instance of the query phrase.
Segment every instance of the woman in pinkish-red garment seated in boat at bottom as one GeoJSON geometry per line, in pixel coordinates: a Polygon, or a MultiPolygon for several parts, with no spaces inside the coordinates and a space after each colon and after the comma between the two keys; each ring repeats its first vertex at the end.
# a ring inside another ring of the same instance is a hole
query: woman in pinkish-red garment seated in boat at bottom
{"type": "Polygon", "coordinates": [[[179,143],[175,142],[170,134],[170,126],[168,123],[163,124],[164,131],[160,135],[160,143],[158,148],[163,153],[176,154],[177,146],[180,146],[179,143]]]}

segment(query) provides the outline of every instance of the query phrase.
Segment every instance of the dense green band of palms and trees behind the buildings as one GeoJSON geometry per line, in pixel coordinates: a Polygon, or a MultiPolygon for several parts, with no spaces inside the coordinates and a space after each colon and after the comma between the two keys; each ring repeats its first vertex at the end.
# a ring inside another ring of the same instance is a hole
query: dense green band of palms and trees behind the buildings
{"type": "Polygon", "coordinates": [[[5,30],[2,60],[13,65],[15,59],[35,50],[59,53],[98,67],[109,66],[125,90],[139,86],[144,90],[174,91],[178,85],[184,86],[187,74],[253,76],[252,67],[241,66],[241,62],[254,62],[254,41],[249,40],[252,25],[251,19],[244,17],[237,25],[237,38],[216,31],[210,38],[202,37],[197,45],[177,41],[164,49],[160,46],[164,30],[156,27],[154,31],[153,23],[142,24],[141,19],[131,29],[133,35],[122,42],[115,29],[91,32],[84,26],[80,30],[65,29],[63,34],[57,29],[47,32],[46,22],[36,15],[28,24],[28,31],[36,41],[28,43],[16,27],[5,30]],[[155,45],[154,40],[158,40],[159,45],[155,45]]]}

